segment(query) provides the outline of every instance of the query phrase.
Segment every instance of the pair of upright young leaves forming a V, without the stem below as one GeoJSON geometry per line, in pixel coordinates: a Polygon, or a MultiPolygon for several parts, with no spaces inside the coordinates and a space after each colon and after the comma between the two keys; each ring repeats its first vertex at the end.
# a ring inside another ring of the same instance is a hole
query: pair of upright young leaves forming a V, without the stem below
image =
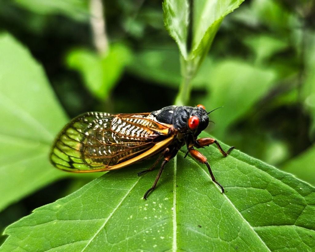
{"type": "Polygon", "coordinates": [[[231,13],[244,0],[192,1],[164,0],[164,24],[169,35],[175,40],[184,60],[201,58],[207,54],[215,33],[218,31],[223,18],[231,13]],[[192,20],[190,12],[192,11],[192,20]],[[187,52],[189,23],[192,22],[192,49],[187,52]]]}

